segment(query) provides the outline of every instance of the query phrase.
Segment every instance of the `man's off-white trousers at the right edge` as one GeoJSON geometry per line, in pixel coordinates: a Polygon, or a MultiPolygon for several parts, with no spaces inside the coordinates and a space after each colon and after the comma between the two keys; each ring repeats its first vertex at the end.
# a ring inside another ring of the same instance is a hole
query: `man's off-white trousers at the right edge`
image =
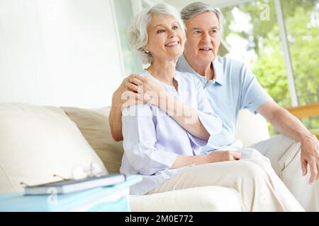
{"type": "Polygon", "coordinates": [[[306,211],[319,211],[318,180],[309,185],[301,170],[301,143],[284,136],[275,136],[250,146],[269,158],[272,168],[306,211]]]}

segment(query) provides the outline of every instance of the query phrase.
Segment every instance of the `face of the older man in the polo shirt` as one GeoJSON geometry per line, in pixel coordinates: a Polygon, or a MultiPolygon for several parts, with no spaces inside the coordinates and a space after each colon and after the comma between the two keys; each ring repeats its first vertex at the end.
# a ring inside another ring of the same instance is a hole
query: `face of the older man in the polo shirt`
{"type": "Polygon", "coordinates": [[[186,22],[186,59],[196,64],[209,64],[218,52],[220,30],[218,18],[213,12],[201,13],[186,22]]]}

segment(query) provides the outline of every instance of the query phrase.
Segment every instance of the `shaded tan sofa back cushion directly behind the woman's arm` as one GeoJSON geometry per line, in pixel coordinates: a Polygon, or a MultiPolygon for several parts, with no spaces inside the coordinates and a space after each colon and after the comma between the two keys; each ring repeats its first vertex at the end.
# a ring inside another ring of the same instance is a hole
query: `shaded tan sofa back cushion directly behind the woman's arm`
{"type": "Polygon", "coordinates": [[[81,109],[62,107],[82,132],[86,141],[99,155],[109,173],[118,173],[123,156],[122,142],[116,142],[108,124],[109,107],[100,109],[81,109]]]}

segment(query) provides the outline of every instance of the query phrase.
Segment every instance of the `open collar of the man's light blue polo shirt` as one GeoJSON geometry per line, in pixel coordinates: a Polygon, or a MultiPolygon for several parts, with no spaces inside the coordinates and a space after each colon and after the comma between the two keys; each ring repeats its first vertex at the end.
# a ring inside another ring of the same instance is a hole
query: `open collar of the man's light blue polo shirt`
{"type": "MultiPolygon", "coordinates": [[[[218,61],[218,57],[216,57],[216,59],[214,59],[214,61],[213,61],[213,69],[214,69],[214,73],[215,73],[213,81],[215,81],[216,83],[219,83],[220,85],[223,85],[224,77],[225,77],[224,70],[223,70],[223,65],[220,64],[220,61],[218,61]]],[[[196,71],[194,71],[194,69],[191,68],[189,63],[186,61],[184,54],[182,54],[181,57],[179,57],[179,59],[177,61],[177,70],[188,72],[188,73],[193,73],[200,80],[203,78],[203,76],[201,76],[196,71]]]]}

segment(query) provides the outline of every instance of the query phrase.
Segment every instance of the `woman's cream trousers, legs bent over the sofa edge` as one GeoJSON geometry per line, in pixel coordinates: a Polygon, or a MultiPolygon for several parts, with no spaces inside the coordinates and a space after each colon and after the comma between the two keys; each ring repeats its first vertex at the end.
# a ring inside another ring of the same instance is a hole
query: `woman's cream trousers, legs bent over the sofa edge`
{"type": "Polygon", "coordinates": [[[187,167],[148,194],[198,186],[225,186],[240,194],[243,211],[304,211],[277,177],[267,157],[252,148],[240,151],[250,158],[187,167]]]}

